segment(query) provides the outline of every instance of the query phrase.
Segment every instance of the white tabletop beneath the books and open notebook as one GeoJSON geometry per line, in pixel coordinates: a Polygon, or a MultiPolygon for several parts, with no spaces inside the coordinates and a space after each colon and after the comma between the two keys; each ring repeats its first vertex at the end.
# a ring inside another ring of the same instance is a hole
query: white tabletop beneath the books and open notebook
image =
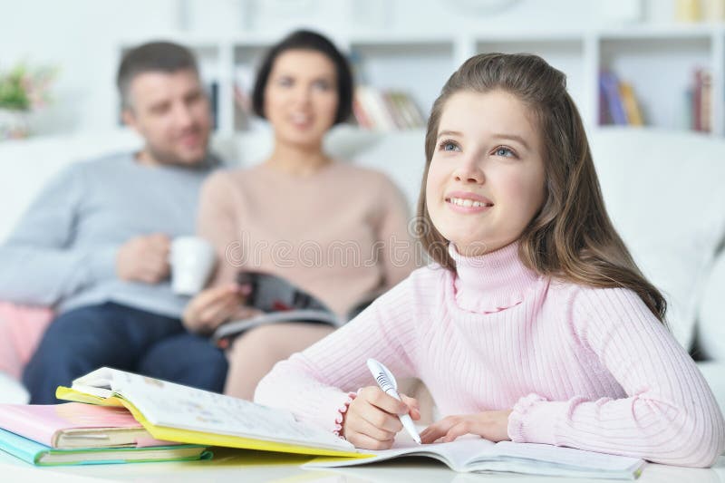
{"type": "MultiPolygon", "coordinates": [[[[94,465],[75,467],[34,468],[0,451],[0,480],[3,482],[53,481],[53,483],[86,481],[234,481],[254,483],[277,482],[395,482],[464,483],[472,481],[506,481],[507,483],[582,483],[584,481],[615,481],[604,479],[551,478],[507,473],[456,473],[431,459],[405,459],[351,469],[306,470],[299,465],[309,457],[279,456],[260,451],[215,449],[210,461],[179,463],[136,463],[126,465],[94,465]]],[[[684,469],[649,464],[638,483],[725,483],[725,456],[712,469],[684,469]]]]}

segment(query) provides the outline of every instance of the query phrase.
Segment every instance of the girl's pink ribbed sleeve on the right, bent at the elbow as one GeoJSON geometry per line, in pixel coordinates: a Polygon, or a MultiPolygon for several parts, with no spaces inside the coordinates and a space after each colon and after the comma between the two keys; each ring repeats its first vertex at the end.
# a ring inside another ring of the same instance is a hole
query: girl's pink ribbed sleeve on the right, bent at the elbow
{"type": "Polygon", "coordinates": [[[625,289],[581,289],[572,306],[582,344],[628,397],[518,401],[508,434],[537,442],[707,467],[725,445],[725,424],[707,382],[688,353],[625,289]]]}

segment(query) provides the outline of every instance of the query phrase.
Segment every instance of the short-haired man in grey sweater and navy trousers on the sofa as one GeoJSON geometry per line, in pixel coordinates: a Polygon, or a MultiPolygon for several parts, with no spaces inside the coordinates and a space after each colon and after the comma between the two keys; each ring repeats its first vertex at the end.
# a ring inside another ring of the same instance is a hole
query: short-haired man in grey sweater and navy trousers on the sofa
{"type": "Polygon", "coordinates": [[[169,284],[169,245],[194,233],[198,188],[217,167],[197,63],[173,43],[128,52],[118,72],[138,152],[74,164],[43,189],[0,246],[0,299],[56,318],[28,362],[31,403],[102,366],[221,391],[224,354],[187,333],[169,284]]]}

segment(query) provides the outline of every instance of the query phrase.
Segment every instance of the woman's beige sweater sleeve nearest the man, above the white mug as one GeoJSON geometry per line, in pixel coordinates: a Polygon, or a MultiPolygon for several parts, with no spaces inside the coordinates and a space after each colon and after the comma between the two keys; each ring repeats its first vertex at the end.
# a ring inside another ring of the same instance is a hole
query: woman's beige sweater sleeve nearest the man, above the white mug
{"type": "Polygon", "coordinates": [[[242,246],[230,182],[228,172],[218,171],[204,182],[199,195],[197,235],[211,243],[217,252],[217,268],[210,286],[233,282],[239,268],[242,246]]]}

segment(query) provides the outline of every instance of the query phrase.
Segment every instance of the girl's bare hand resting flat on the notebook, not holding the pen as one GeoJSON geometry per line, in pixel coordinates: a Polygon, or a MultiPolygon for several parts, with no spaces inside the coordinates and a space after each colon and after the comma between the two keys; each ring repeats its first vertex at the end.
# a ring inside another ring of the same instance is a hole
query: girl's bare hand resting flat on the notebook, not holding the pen
{"type": "Polygon", "coordinates": [[[420,433],[420,440],[424,444],[432,443],[439,438],[442,438],[443,442],[449,442],[464,434],[478,434],[481,438],[494,442],[509,440],[507,430],[509,414],[510,410],[447,416],[423,430],[420,433]]]}

